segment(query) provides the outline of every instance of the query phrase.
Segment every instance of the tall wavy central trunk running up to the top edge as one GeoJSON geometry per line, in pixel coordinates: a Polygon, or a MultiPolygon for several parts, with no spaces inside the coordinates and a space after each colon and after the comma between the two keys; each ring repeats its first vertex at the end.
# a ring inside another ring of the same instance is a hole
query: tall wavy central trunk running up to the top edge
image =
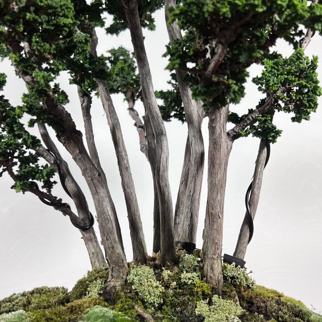
{"type": "MultiPolygon", "coordinates": [[[[155,182],[160,208],[161,258],[164,264],[174,263],[176,261],[175,237],[172,197],[169,185],[169,148],[166,129],[154,95],[152,76],[145,52],[136,1],[122,0],[122,4],[131,32],[135,57],[139,69],[143,104],[146,111],[145,114],[148,115],[150,119],[155,137],[157,161],[155,182]]],[[[147,135],[149,135],[149,133],[147,133],[147,135]]]]}

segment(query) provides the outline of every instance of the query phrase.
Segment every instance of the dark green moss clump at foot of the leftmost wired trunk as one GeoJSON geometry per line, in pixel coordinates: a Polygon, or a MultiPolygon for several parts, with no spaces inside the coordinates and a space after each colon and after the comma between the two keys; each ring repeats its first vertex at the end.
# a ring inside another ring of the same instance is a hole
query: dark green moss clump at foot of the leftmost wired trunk
{"type": "Polygon", "coordinates": [[[89,271],[85,277],[79,279],[76,282],[76,284],[70,291],[69,293],[70,300],[73,301],[87,296],[87,294],[91,292],[90,288],[94,287],[94,286],[90,286],[92,283],[94,283],[95,281],[100,281],[100,283],[103,283],[104,281],[105,283],[108,279],[108,276],[109,276],[109,270],[107,265],[105,265],[104,267],[95,268],[92,271],[89,271]]]}

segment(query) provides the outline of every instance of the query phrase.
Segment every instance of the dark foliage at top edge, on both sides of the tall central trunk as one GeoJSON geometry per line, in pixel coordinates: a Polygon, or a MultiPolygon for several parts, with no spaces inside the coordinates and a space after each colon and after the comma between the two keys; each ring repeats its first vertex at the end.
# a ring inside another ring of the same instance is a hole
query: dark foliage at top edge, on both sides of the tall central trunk
{"type": "MultiPolygon", "coordinates": [[[[137,8],[140,24],[143,28],[154,30],[154,19],[152,14],[163,6],[163,0],[137,0],[137,8]]],[[[108,34],[118,35],[127,28],[123,6],[118,0],[105,0],[106,11],[113,16],[113,23],[106,28],[108,34]]]]}

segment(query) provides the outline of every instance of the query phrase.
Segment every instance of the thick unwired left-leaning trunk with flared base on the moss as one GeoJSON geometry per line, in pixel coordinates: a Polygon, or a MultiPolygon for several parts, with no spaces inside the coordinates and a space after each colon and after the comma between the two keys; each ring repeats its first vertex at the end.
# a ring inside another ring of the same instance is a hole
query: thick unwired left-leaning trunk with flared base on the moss
{"type": "MultiPolygon", "coordinates": [[[[14,53],[19,52],[20,45],[17,41],[13,40],[10,45],[14,53]]],[[[27,86],[33,87],[36,85],[32,75],[21,72],[14,62],[13,65],[27,86]]],[[[82,133],[76,129],[66,109],[62,105],[55,103],[54,97],[50,92],[45,93],[43,104],[55,124],[61,126],[62,130],[56,133],[56,137],[72,155],[91,191],[101,232],[102,245],[109,265],[108,282],[111,282],[111,286],[123,283],[128,273],[128,267],[120,225],[107,182],[102,177],[102,173],[95,167],[85,148],[82,133]]]]}

